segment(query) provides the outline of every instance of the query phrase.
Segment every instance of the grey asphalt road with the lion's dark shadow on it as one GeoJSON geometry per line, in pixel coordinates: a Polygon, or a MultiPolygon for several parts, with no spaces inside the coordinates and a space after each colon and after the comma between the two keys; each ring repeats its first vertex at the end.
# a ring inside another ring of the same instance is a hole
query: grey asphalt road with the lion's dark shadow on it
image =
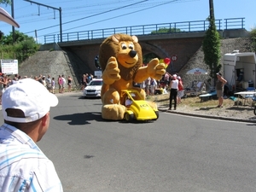
{"type": "Polygon", "coordinates": [[[254,124],[163,112],[155,122],[105,121],[101,100],[80,94],[59,96],[38,143],[64,191],[255,191],[254,124]]]}

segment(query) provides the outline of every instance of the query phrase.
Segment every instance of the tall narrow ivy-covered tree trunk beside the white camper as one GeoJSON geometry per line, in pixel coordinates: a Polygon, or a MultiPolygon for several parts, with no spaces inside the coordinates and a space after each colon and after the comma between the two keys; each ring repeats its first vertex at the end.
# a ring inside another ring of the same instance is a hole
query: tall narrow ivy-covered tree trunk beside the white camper
{"type": "MultiPolygon", "coordinates": [[[[210,1],[211,2],[211,1],[210,1]]],[[[204,51],[204,61],[210,68],[210,76],[216,79],[216,73],[221,69],[220,64],[220,37],[215,26],[215,19],[213,14],[213,3],[210,6],[209,27],[202,43],[204,51]]],[[[214,81],[215,82],[215,81],[214,81]]]]}

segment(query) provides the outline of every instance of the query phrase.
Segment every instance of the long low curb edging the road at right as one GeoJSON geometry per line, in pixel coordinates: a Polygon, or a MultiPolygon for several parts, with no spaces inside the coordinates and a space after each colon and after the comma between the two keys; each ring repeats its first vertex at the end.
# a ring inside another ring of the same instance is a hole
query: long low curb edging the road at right
{"type": "Polygon", "coordinates": [[[180,115],[188,115],[193,117],[201,117],[201,118],[207,118],[207,119],[220,119],[220,120],[230,120],[230,121],[236,121],[236,122],[245,122],[245,123],[256,123],[256,120],[250,120],[250,119],[235,119],[235,118],[227,118],[227,117],[219,117],[219,116],[210,116],[210,115],[204,115],[204,114],[196,114],[196,113],[184,113],[184,112],[178,112],[178,111],[171,111],[165,108],[158,108],[161,112],[166,113],[175,113],[180,115]]]}

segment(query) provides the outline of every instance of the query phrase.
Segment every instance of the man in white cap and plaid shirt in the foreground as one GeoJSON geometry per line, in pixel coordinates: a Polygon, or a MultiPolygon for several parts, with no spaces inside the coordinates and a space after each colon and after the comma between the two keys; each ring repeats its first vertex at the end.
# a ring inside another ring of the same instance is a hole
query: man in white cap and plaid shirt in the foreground
{"type": "Polygon", "coordinates": [[[2,97],[0,191],[63,191],[55,166],[38,148],[58,98],[34,79],[21,79],[2,97]]]}

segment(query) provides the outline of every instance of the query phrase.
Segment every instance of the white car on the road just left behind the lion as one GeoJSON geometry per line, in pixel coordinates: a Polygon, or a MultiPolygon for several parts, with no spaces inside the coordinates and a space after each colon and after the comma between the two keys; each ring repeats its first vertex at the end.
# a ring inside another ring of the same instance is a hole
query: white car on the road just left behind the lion
{"type": "Polygon", "coordinates": [[[91,79],[84,88],[84,97],[101,97],[102,79],[91,79]]]}

